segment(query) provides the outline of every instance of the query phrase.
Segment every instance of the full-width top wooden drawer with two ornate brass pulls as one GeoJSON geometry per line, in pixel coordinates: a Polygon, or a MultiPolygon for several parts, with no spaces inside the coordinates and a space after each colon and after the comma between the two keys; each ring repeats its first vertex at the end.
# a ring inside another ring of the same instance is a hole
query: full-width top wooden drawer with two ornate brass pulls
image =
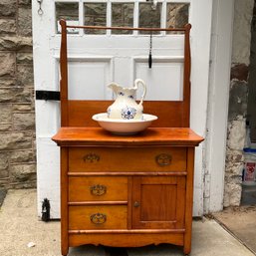
{"type": "Polygon", "coordinates": [[[185,171],[186,147],[70,147],[69,171],[185,171]]]}

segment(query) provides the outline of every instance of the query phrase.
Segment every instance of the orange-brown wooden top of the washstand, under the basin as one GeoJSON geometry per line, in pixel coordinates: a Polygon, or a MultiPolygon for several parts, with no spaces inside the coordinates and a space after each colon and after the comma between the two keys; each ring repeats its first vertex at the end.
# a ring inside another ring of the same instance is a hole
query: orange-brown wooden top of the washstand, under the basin
{"type": "Polygon", "coordinates": [[[103,128],[60,128],[52,139],[60,146],[196,146],[204,138],[191,128],[146,128],[135,135],[116,135],[103,128]]]}

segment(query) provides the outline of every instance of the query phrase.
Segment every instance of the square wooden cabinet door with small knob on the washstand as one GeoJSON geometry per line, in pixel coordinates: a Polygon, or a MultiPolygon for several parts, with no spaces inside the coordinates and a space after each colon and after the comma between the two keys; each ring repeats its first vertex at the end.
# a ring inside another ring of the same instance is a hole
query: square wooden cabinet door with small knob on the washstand
{"type": "Polygon", "coordinates": [[[185,177],[133,177],[132,228],[184,227],[185,177]]]}

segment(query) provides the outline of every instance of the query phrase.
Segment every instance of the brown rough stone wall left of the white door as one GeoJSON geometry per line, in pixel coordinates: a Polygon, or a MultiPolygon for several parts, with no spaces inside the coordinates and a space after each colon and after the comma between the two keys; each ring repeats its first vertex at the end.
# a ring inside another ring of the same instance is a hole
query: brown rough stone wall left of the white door
{"type": "Polygon", "coordinates": [[[0,1],[0,190],[36,186],[31,0],[0,1]]]}

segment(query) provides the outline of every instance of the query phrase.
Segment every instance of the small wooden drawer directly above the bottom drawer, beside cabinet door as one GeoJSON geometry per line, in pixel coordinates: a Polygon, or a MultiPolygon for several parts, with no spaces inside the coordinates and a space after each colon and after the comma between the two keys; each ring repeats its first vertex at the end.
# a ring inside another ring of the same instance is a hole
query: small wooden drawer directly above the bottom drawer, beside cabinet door
{"type": "Polygon", "coordinates": [[[128,177],[69,177],[69,201],[127,201],[128,177]]]}

